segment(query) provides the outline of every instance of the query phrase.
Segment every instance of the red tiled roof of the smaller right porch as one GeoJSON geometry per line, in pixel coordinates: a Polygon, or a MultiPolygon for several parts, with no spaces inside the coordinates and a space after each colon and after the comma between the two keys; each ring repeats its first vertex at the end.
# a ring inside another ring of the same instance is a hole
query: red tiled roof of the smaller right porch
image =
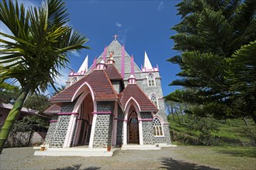
{"type": "Polygon", "coordinates": [[[157,111],[157,107],[150,101],[147,95],[138,87],[137,84],[128,84],[123,90],[123,96],[121,97],[121,104],[125,106],[127,100],[133,97],[140,105],[141,111],[157,111]]]}

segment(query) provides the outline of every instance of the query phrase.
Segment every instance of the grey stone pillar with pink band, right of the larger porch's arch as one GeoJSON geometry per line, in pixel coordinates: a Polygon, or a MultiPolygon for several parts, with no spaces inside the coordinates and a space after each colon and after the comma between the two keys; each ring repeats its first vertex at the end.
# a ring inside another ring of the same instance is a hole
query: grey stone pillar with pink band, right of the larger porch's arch
{"type": "MultiPolygon", "coordinates": [[[[97,111],[114,110],[113,101],[97,102],[97,111]]],[[[95,126],[95,135],[93,139],[93,148],[106,148],[112,145],[112,114],[98,114],[95,126]]]]}

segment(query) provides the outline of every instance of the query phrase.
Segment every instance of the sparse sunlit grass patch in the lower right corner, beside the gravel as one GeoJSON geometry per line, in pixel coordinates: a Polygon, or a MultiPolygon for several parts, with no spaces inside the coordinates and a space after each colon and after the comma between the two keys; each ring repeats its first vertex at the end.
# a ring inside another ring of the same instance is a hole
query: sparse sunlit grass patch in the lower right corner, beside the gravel
{"type": "Polygon", "coordinates": [[[199,165],[220,169],[255,169],[256,148],[178,146],[174,152],[199,165]]]}

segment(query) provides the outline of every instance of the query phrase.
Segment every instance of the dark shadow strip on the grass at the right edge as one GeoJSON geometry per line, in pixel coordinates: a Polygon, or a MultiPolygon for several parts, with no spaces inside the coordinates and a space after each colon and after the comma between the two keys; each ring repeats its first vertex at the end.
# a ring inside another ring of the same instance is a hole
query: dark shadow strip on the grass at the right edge
{"type": "Polygon", "coordinates": [[[251,157],[256,158],[256,148],[244,148],[244,149],[230,149],[230,150],[218,150],[221,154],[233,155],[235,157],[251,157]]]}

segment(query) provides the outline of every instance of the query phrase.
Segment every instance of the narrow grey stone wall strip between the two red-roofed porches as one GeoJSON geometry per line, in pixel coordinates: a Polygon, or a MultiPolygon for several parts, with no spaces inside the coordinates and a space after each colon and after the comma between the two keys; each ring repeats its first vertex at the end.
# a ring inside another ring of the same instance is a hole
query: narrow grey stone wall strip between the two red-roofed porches
{"type": "Polygon", "coordinates": [[[117,130],[116,130],[116,145],[123,145],[123,119],[124,114],[120,107],[118,107],[117,117],[117,130]]]}

